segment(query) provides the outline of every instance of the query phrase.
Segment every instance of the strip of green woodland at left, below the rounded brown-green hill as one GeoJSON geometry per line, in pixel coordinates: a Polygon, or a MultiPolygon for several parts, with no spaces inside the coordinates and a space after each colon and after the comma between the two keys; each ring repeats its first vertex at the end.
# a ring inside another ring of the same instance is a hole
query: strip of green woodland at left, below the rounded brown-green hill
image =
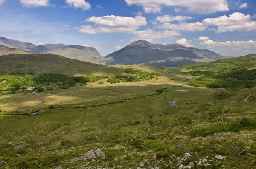
{"type": "Polygon", "coordinates": [[[27,87],[35,87],[35,90],[42,92],[44,90],[51,91],[55,88],[68,89],[74,85],[86,85],[89,82],[98,82],[99,85],[103,84],[103,79],[107,82],[136,82],[143,80],[150,80],[162,76],[156,72],[143,72],[143,71],[127,71],[130,75],[122,76],[79,76],[70,77],[64,74],[44,73],[36,75],[33,72],[24,73],[9,73],[0,75],[0,94],[16,93],[16,90],[26,90],[27,87]]]}

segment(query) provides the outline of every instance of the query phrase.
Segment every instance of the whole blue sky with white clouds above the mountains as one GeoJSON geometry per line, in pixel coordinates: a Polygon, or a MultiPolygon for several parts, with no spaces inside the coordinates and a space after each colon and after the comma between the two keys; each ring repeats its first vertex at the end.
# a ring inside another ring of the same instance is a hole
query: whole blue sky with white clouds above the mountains
{"type": "Polygon", "coordinates": [[[256,0],[0,0],[0,36],[96,48],[134,40],[256,54],[256,0]]]}

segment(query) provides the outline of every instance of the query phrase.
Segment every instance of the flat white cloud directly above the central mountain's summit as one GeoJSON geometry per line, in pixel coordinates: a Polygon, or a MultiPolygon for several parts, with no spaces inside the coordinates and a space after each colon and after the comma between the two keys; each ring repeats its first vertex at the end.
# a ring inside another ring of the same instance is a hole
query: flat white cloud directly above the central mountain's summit
{"type": "Polygon", "coordinates": [[[136,31],[134,34],[140,39],[157,39],[157,38],[164,38],[164,37],[175,37],[180,36],[180,32],[177,31],[153,31],[151,29],[143,30],[143,31],[136,31]]]}

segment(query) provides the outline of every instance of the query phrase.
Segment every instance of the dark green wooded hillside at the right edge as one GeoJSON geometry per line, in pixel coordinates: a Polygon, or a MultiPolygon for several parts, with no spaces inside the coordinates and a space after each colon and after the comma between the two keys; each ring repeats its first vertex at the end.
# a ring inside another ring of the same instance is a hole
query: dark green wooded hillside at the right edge
{"type": "Polygon", "coordinates": [[[196,87],[248,88],[256,85],[256,55],[180,65],[172,70],[198,76],[188,83],[196,87]]]}

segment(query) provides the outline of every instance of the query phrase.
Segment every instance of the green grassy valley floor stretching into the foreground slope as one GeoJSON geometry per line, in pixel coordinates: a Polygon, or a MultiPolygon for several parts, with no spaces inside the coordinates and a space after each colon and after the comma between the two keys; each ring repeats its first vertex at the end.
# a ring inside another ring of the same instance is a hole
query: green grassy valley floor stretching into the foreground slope
{"type": "MultiPolygon", "coordinates": [[[[178,169],[191,162],[194,169],[256,167],[255,87],[181,87],[198,77],[177,68],[103,67],[111,69],[112,76],[132,76],[124,71],[127,68],[163,76],[114,84],[106,78],[102,85],[95,81],[35,90],[38,95],[33,90],[0,95],[0,161],[6,163],[0,168],[178,169]],[[243,143],[239,151],[232,149],[237,139],[243,143]],[[105,153],[105,159],[70,163],[96,149],[105,153]],[[237,157],[243,150],[246,155],[237,157]],[[187,152],[191,156],[183,158],[187,152]],[[216,155],[225,159],[217,160],[216,155]]],[[[29,67],[18,70],[26,73],[29,67]]],[[[34,70],[34,76],[50,71],[34,70]]],[[[54,73],[75,75],[67,70],[54,73]]]]}

